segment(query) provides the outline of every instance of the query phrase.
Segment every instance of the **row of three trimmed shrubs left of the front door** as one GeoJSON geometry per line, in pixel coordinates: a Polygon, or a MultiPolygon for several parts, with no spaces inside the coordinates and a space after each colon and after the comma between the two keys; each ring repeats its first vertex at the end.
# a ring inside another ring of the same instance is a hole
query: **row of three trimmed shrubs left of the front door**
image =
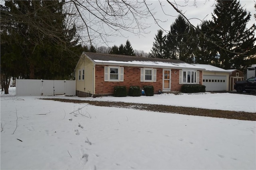
{"type": "MultiPolygon", "coordinates": [[[[154,96],[154,87],[153,86],[143,86],[145,96],[154,96]]],[[[130,86],[129,96],[141,96],[140,86],[130,86]]],[[[126,86],[115,86],[114,87],[114,96],[115,97],[125,97],[127,96],[126,86]]]]}

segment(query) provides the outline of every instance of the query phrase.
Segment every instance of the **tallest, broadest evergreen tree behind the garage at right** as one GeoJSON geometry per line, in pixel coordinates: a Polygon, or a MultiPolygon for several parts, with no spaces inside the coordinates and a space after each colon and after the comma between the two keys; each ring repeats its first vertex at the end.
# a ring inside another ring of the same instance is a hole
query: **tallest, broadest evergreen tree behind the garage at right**
{"type": "Polygon", "coordinates": [[[214,37],[210,39],[218,45],[215,53],[220,56],[220,67],[242,70],[250,63],[247,59],[256,41],[255,24],[246,28],[250,16],[239,1],[217,1],[210,25],[214,37]]]}

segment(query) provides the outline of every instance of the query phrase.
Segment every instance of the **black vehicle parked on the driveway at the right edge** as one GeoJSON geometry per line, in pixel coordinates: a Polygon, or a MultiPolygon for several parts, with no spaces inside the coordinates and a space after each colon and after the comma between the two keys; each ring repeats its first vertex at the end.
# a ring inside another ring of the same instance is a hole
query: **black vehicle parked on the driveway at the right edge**
{"type": "Polygon", "coordinates": [[[256,77],[248,78],[246,81],[235,82],[234,89],[241,93],[246,92],[256,92],[256,77]]]}

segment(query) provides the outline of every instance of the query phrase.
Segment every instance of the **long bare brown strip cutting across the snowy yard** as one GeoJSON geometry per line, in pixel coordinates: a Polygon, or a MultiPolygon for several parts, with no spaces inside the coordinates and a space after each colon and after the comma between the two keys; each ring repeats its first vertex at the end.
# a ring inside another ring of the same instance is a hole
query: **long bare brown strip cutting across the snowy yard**
{"type": "Polygon", "coordinates": [[[178,113],[178,114],[184,114],[184,115],[196,115],[196,116],[256,121],[256,113],[250,113],[250,112],[244,112],[244,111],[226,111],[226,110],[217,110],[217,109],[200,109],[200,108],[194,108],[194,107],[166,106],[166,105],[157,105],[157,104],[86,101],[86,100],[72,100],[72,99],[62,99],[62,98],[41,98],[41,99],[54,100],[59,102],[87,103],[94,106],[104,106],[104,107],[124,107],[124,108],[131,108],[131,109],[137,109],[137,110],[156,111],[156,112],[162,112],[162,113],[178,113]]]}

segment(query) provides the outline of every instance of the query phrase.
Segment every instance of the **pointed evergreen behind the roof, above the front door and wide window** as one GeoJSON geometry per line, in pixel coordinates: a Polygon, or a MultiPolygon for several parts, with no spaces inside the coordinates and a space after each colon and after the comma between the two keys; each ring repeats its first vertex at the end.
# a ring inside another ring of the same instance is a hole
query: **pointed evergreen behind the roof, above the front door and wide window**
{"type": "Polygon", "coordinates": [[[193,41],[194,29],[179,15],[170,26],[170,31],[166,37],[165,56],[170,59],[193,62],[193,41]]]}

